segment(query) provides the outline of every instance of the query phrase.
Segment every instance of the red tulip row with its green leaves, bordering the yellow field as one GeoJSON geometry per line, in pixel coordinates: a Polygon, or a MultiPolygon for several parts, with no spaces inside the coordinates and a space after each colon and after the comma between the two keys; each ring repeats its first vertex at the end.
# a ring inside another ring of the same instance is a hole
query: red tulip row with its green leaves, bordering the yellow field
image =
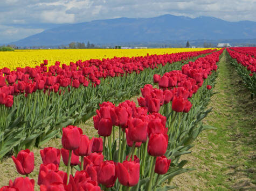
{"type": "Polygon", "coordinates": [[[0,159],[10,151],[17,155],[43,145],[59,136],[62,127],[95,115],[101,102],[129,99],[152,83],[155,73],[179,70],[189,59],[213,51],[114,57],[61,67],[59,62],[47,67],[45,60],[35,68],[0,69],[0,159]]]}

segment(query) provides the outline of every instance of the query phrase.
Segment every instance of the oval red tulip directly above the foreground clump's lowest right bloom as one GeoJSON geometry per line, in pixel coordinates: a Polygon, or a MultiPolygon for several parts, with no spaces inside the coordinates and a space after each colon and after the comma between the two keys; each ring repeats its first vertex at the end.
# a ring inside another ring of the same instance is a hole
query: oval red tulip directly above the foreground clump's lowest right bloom
{"type": "Polygon", "coordinates": [[[151,156],[160,157],[165,154],[168,145],[168,135],[150,134],[148,142],[148,153],[151,156]]]}

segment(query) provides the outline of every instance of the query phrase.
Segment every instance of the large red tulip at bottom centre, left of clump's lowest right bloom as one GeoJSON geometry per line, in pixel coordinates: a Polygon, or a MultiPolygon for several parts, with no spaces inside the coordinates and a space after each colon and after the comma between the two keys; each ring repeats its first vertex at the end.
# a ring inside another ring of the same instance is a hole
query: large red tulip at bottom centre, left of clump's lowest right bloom
{"type": "Polygon", "coordinates": [[[140,163],[126,160],[123,163],[117,163],[116,173],[121,185],[135,186],[140,179],[140,163]]]}

